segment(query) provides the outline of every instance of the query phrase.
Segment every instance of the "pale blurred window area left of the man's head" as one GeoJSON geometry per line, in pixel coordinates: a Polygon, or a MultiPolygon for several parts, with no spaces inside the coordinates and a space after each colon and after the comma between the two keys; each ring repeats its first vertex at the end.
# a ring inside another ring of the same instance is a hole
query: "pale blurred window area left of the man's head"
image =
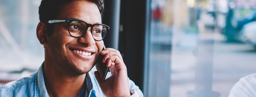
{"type": "Polygon", "coordinates": [[[0,0],[0,86],[29,76],[44,61],[44,47],[36,37],[40,3],[0,0]]]}

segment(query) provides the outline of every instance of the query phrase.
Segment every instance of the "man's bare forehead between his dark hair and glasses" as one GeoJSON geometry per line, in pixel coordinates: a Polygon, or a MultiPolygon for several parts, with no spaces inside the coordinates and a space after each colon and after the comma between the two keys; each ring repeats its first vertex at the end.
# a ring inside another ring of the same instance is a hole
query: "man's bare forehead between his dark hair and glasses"
{"type": "Polygon", "coordinates": [[[89,24],[101,23],[101,16],[96,4],[79,0],[61,5],[56,19],[77,18],[89,24]]]}

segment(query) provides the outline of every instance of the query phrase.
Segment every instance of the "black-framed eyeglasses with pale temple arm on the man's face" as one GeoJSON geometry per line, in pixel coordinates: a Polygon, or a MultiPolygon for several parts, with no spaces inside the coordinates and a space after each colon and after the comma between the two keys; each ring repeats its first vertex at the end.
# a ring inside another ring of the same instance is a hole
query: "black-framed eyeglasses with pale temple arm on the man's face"
{"type": "Polygon", "coordinates": [[[47,23],[68,23],[69,34],[73,37],[82,37],[87,31],[88,27],[91,27],[91,33],[95,40],[101,41],[107,35],[109,27],[104,24],[88,24],[85,21],[77,19],[66,19],[66,20],[49,20],[47,23]]]}

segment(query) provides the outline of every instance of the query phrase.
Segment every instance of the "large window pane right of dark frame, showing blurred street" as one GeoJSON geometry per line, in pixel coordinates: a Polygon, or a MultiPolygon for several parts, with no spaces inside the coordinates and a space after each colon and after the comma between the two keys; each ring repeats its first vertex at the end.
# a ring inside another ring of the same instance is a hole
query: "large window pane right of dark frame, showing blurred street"
{"type": "Polygon", "coordinates": [[[228,97],[256,73],[255,0],[150,1],[147,97],[228,97]]]}

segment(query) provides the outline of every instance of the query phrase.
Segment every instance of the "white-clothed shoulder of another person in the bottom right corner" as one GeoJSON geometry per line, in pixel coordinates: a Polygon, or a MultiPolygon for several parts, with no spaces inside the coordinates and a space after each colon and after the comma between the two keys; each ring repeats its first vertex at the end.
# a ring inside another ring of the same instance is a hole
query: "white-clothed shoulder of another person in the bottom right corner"
{"type": "Polygon", "coordinates": [[[256,73],[240,78],[228,97],[256,97],[256,73]]]}

